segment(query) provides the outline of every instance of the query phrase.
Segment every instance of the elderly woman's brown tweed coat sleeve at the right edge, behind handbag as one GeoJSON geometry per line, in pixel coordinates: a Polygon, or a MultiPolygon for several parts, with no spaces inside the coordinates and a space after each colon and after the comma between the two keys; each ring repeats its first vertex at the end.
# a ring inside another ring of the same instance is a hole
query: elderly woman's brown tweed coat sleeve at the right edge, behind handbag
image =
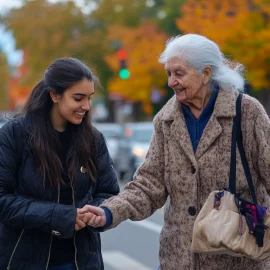
{"type": "Polygon", "coordinates": [[[257,105],[254,124],[253,163],[270,195],[270,120],[261,104],[257,105]]]}

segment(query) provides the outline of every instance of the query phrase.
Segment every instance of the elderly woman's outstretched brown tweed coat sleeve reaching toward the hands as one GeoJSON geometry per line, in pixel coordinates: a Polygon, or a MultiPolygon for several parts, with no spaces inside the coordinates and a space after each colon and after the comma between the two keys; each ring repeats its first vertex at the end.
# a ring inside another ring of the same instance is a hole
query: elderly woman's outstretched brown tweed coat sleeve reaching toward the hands
{"type": "Polygon", "coordinates": [[[154,123],[155,130],[149,151],[133,181],[125,186],[122,193],[101,205],[112,214],[113,222],[108,229],[126,219],[145,219],[166,202],[168,193],[164,182],[164,138],[159,119],[156,118],[154,123]]]}

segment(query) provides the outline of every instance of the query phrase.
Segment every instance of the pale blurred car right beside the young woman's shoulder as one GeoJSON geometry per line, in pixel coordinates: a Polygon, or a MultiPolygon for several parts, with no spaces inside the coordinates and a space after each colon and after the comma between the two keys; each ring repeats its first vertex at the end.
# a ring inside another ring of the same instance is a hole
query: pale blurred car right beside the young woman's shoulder
{"type": "Polygon", "coordinates": [[[93,126],[104,135],[110,156],[115,167],[119,142],[123,133],[121,125],[117,123],[93,123],[93,126]]]}

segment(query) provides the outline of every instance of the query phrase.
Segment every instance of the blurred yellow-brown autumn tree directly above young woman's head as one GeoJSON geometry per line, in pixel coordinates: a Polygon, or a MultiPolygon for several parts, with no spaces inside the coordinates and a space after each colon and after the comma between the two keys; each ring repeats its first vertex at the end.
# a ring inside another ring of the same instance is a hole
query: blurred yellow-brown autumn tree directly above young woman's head
{"type": "Polygon", "coordinates": [[[11,10],[4,22],[13,32],[16,48],[28,54],[28,72],[22,84],[36,83],[47,66],[60,57],[77,57],[93,67],[101,81],[108,77],[103,61],[104,32],[74,2],[26,1],[21,8],[11,10]]]}

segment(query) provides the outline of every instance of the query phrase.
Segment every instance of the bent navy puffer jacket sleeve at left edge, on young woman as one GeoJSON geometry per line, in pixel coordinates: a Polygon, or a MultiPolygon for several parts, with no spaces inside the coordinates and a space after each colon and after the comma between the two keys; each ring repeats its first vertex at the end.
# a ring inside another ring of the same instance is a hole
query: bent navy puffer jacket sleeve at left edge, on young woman
{"type": "Polygon", "coordinates": [[[77,209],[16,194],[22,159],[22,127],[10,121],[0,129],[0,222],[13,228],[58,231],[71,238],[77,209]]]}

